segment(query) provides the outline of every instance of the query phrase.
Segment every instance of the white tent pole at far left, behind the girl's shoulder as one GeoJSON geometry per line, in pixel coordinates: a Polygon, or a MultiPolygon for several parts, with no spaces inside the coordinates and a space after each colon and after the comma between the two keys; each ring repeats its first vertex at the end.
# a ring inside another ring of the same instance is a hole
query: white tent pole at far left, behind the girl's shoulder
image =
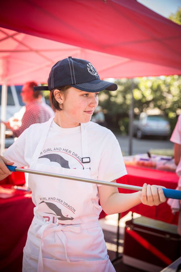
{"type": "MultiPolygon", "coordinates": [[[[6,121],[6,107],[7,107],[7,93],[8,93],[8,81],[4,81],[2,86],[2,98],[1,98],[1,120],[6,121]]],[[[1,123],[1,136],[0,136],[0,154],[3,155],[5,150],[5,131],[6,126],[1,123]]]]}

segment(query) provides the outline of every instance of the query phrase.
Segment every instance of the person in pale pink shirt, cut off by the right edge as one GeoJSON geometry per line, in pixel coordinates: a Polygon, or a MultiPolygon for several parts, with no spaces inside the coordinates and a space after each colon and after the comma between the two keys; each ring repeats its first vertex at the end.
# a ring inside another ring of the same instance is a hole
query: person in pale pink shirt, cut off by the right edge
{"type": "MultiPolygon", "coordinates": [[[[174,162],[177,165],[176,174],[179,176],[177,190],[181,190],[181,114],[178,116],[176,126],[171,135],[170,141],[174,143],[174,162]]],[[[179,211],[178,234],[181,235],[181,206],[179,200],[168,199],[172,213],[179,211]]]]}

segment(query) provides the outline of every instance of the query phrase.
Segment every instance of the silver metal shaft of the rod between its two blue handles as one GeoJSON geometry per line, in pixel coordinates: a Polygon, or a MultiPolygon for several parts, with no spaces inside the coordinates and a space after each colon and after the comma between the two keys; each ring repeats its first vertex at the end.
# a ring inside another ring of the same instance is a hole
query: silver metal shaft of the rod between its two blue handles
{"type": "Polygon", "coordinates": [[[101,180],[89,179],[89,178],[79,178],[79,177],[66,176],[66,175],[60,175],[60,174],[54,174],[54,173],[48,173],[48,172],[41,172],[41,171],[31,170],[31,169],[22,169],[22,168],[17,168],[17,167],[15,168],[15,171],[29,173],[29,174],[42,175],[42,176],[48,176],[48,177],[54,177],[54,178],[64,178],[64,179],[70,179],[70,180],[76,180],[76,181],[83,181],[83,182],[87,182],[87,183],[94,183],[94,184],[100,184],[100,185],[108,185],[108,186],[123,188],[123,189],[142,191],[141,186],[121,184],[121,183],[116,183],[116,182],[101,181],[101,180]]]}

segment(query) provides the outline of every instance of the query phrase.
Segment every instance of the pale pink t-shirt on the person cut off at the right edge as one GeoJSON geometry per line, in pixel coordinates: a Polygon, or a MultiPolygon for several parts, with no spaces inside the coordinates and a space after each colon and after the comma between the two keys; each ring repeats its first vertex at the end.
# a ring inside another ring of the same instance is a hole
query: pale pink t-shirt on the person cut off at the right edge
{"type": "MultiPolygon", "coordinates": [[[[181,145],[181,114],[178,116],[178,120],[171,135],[170,141],[181,145]]],[[[176,167],[176,173],[178,176],[181,176],[181,160],[176,167]]]]}

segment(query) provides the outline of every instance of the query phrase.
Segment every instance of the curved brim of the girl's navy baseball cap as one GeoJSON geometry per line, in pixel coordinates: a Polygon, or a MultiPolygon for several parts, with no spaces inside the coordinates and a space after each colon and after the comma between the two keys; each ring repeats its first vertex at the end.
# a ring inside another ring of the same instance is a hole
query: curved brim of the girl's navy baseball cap
{"type": "Polygon", "coordinates": [[[94,81],[89,81],[86,83],[74,84],[71,86],[78,90],[89,92],[89,93],[96,93],[103,90],[108,90],[108,91],[117,90],[117,85],[115,83],[102,81],[102,80],[94,80],[94,81]]]}

